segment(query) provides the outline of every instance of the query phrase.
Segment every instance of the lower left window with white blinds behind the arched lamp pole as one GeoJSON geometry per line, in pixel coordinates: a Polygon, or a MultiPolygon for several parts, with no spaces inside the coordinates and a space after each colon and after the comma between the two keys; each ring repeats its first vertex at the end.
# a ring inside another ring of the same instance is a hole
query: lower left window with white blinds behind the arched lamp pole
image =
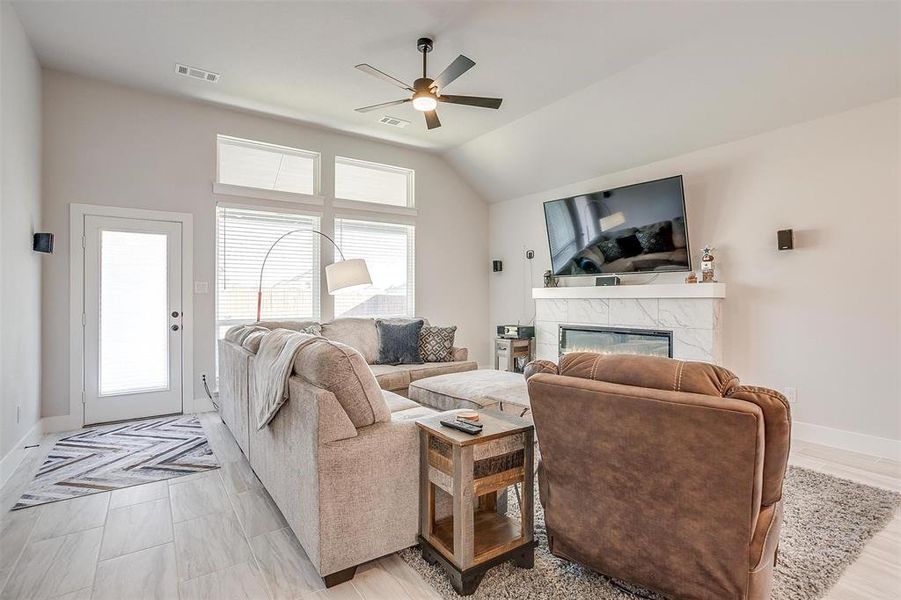
{"type": "Polygon", "coordinates": [[[319,229],[314,216],[218,207],[216,209],[216,332],[256,320],[260,267],[272,250],[263,274],[263,320],[319,319],[319,229]]]}

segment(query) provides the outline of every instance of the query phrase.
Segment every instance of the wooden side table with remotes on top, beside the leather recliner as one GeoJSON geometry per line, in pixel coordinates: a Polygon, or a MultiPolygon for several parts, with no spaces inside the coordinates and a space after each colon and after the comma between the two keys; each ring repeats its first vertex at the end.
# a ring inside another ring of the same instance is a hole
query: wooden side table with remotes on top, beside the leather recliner
{"type": "Polygon", "coordinates": [[[513,559],[534,565],[534,437],[519,417],[479,412],[482,433],[444,427],[453,411],[417,420],[420,433],[419,542],[429,564],[440,563],[458,594],[476,591],[485,572],[513,559]],[[496,510],[497,493],[523,486],[520,519],[496,510]],[[436,519],[435,495],[453,499],[453,514],[436,519]]]}

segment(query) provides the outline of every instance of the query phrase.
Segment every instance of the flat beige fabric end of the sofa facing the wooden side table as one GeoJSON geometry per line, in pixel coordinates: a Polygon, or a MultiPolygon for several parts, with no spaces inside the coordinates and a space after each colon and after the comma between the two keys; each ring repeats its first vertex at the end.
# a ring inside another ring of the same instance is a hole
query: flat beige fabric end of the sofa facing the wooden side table
{"type": "Polygon", "coordinates": [[[419,428],[376,423],[319,447],[320,556],[327,575],[416,544],[419,428]]]}

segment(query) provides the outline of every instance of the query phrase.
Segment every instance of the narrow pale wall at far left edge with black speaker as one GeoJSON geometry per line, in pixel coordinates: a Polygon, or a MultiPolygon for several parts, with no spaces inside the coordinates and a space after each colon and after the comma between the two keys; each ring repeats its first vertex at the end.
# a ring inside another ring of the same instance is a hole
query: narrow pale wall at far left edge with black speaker
{"type": "Polygon", "coordinates": [[[0,457],[38,422],[41,395],[41,67],[0,3],[0,457]],[[16,408],[21,413],[16,416],[16,408]]]}

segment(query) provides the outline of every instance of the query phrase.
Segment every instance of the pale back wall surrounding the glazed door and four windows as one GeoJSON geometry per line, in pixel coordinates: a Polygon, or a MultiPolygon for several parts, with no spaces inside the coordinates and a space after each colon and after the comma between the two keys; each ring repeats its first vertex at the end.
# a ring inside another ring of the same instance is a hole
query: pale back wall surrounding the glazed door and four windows
{"type": "MultiPolygon", "coordinates": [[[[198,83],[198,85],[204,85],[198,83]]],[[[199,102],[44,72],[44,215],[57,252],[44,270],[44,415],[68,412],[68,204],[190,212],[194,279],[215,260],[216,134],[315,150],[323,194],[336,154],[416,170],[416,312],[458,325],[458,345],[487,361],[488,209],[438,156],[199,102]]],[[[213,372],[214,296],[194,296],[194,398],[213,372]]],[[[187,390],[186,394],[192,393],[187,390]]]]}

